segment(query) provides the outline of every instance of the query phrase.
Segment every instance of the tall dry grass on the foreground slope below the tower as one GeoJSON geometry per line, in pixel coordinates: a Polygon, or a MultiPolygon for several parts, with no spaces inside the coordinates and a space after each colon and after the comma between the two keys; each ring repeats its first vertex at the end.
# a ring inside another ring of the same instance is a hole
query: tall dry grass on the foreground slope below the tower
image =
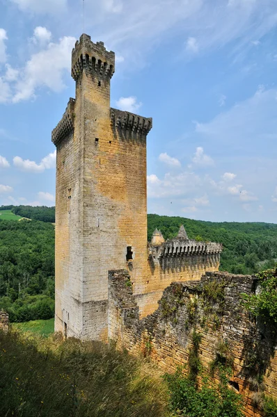
{"type": "Polygon", "coordinates": [[[167,404],[146,359],[59,334],[0,332],[0,416],[166,417],[167,404]]]}

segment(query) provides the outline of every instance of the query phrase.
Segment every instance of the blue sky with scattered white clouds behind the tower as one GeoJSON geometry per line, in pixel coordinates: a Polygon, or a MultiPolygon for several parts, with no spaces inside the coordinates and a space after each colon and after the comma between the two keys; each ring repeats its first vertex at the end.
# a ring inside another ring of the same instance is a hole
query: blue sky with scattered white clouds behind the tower
{"type": "Polygon", "coordinates": [[[54,205],[84,24],[116,52],[111,106],[153,117],[148,213],[276,222],[277,1],[84,3],[0,0],[0,205],[54,205]]]}

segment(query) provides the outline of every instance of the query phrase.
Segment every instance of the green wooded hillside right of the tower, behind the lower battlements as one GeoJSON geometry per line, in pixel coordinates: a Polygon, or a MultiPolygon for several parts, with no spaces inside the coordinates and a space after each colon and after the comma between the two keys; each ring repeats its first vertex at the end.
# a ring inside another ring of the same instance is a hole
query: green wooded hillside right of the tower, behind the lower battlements
{"type": "Polygon", "coordinates": [[[184,224],[189,238],[223,243],[221,270],[253,274],[273,268],[277,259],[277,224],[260,222],[203,222],[180,217],[148,214],[148,240],[161,230],[165,239],[177,235],[184,224]]]}

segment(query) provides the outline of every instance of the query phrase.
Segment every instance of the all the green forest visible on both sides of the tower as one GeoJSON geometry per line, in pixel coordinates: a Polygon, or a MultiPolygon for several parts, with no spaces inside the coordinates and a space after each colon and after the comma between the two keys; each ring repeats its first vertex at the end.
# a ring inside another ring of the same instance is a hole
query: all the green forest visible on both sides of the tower
{"type": "MultiPolygon", "coordinates": [[[[53,208],[6,206],[29,220],[0,219],[0,310],[13,322],[54,316],[54,225],[47,219],[53,208]],[[17,211],[19,208],[19,211],[17,211]],[[27,215],[28,213],[28,215],[27,215]]],[[[3,206],[1,210],[3,210],[3,206]]],[[[148,215],[148,240],[160,229],[164,238],[177,235],[184,224],[189,238],[223,243],[221,270],[253,274],[275,265],[277,224],[203,222],[180,217],[148,215]]]]}

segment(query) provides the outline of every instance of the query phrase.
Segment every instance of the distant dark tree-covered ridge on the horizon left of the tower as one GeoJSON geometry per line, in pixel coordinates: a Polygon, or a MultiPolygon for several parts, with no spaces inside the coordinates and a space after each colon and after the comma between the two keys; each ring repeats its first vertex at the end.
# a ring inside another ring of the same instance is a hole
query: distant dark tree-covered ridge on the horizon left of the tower
{"type": "Polygon", "coordinates": [[[55,207],[47,206],[1,206],[1,210],[11,210],[17,215],[40,222],[55,222],[55,207]]]}

